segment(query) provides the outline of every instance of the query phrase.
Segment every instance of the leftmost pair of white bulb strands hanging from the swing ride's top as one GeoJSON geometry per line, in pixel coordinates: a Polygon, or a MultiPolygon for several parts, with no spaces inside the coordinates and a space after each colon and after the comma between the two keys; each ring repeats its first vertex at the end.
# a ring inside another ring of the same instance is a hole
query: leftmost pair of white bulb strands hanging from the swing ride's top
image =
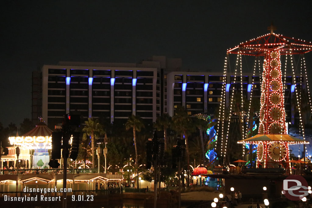
{"type": "MultiPolygon", "coordinates": [[[[219,132],[219,123],[221,122],[222,125],[222,133],[221,133],[221,156],[222,156],[222,151],[223,151],[223,126],[224,126],[224,103],[225,99],[224,94],[225,94],[225,87],[226,87],[226,76],[227,76],[227,56],[224,59],[224,66],[223,66],[223,83],[222,83],[222,91],[221,91],[221,103],[220,103],[220,108],[219,108],[219,122],[217,123],[216,126],[216,133],[219,132]],[[222,108],[223,107],[223,108],[222,108]],[[223,109],[222,115],[221,115],[221,110],[223,109]]],[[[218,140],[218,139],[217,139],[218,140]]],[[[217,140],[215,144],[215,151],[217,149],[217,140]]]]}

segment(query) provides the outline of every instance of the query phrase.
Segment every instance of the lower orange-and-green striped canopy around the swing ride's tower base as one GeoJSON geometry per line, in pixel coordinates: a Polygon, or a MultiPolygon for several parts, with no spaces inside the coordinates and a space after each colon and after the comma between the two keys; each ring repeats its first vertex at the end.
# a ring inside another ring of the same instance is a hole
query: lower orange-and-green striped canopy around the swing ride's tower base
{"type": "Polygon", "coordinates": [[[237,143],[256,144],[257,142],[287,142],[288,144],[309,144],[309,142],[292,137],[288,134],[258,134],[256,136],[240,140],[237,143]]]}

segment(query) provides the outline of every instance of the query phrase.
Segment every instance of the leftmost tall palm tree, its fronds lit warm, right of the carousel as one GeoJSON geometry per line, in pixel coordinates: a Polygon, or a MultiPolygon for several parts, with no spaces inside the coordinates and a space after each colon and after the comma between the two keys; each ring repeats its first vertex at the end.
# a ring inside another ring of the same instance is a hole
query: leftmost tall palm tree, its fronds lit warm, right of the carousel
{"type": "Polygon", "coordinates": [[[95,164],[95,139],[99,138],[101,134],[104,134],[103,126],[99,123],[98,119],[88,118],[85,121],[85,127],[82,129],[83,138],[87,136],[91,137],[91,151],[92,151],[92,169],[94,169],[95,164]]]}

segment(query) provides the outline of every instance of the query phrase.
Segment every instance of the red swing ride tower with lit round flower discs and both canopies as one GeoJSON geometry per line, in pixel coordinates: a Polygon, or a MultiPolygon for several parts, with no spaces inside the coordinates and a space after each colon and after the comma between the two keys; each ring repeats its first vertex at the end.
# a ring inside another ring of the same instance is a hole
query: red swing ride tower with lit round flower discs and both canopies
{"type": "MultiPolygon", "coordinates": [[[[287,161],[286,166],[290,166],[290,164],[288,164],[289,145],[308,143],[305,139],[302,140],[286,134],[287,127],[285,125],[284,108],[285,80],[282,79],[283,74],[281,71],[280,57],[281,55],[285,55],[287,61],[287,56],[290,56],[292,71],[294,74],[292,56],[310,52],[312,50],[312,44],[311,42],[307,42],[305,40],[275,34],[272,29],[273,28],[271,26],[271,33],[240,43],[238,46],[227,50],[228,54],[237,54],[237,60],[238,57],[241,59],[241,56],[264,57],[258,135],[246,139],[243,136],[243,140],[237,142],[244,145],[257,145],[257,166],[261,164],[263,167],[269,167],[270,162],[281,163],[282,161],[287,161]]],[[[238,61],[236,62],[238,63],[238,61]]],[[[293,83],[296,88],[296,79],[293,79],[293,83]]],[[[252,87],[253,86],[251,86],[251,88],[252,87]]],[[[307,87],[309,90],[309,86],[307,87]]],[[[308,93],[310,92],[308,91],[308,93]]],[[[298,96],[299,95],[296,90],[297,100],[298,96]]],[[[302,127],[301,132],[304,138],[304,128],[302,125],[300,107],[298,108],[298,111],[302,127]]],[[[227,138],[223,143],[222,147],[226,148],[227,138]]]]}

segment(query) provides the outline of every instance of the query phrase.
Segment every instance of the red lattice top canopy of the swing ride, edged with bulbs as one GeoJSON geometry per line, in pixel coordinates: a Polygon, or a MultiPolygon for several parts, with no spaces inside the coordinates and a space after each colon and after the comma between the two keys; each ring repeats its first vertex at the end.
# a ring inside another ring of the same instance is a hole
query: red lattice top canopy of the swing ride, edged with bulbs
{"type": "Polygon", "coordinates": [[[280,34],[268,33],[242,42],[238,46],[228,49],[227,53],[264,56],[264,52],[268,50],[280,51],[280,55],[285,55],[290,51],[292,54],[304,54],[312,51],[312,43],[280,34]]]}

